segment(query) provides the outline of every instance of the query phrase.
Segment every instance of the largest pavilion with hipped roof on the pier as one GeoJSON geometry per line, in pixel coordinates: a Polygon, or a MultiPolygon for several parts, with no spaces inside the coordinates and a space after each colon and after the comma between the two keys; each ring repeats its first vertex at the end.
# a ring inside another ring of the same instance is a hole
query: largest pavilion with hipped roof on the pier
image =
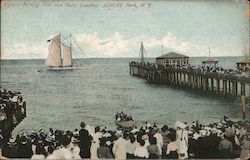
{"type": "Polygon", "coordinates": [[[179,54],[176,52],[169,52],[167,54],[164,54],[160,57],[156,58],[156,64],[157,65],[188,65],[189,64],[189,57],[183,54],[179,54]]]}

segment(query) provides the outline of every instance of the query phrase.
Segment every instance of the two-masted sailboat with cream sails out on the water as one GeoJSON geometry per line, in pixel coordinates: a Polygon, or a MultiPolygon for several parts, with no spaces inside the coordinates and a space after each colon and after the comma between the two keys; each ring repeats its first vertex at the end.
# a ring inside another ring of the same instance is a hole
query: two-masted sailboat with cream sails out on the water
{"type": "MultiPolygon", "coordinates": [[[[49,42],[49,53],[45,64],[50,70],[70,70],[81,68],[80,66],[73,66],[71,39],[74,40],[71,35],[64,37],[60,33],[47,40],[47,42],[49,42]]],[[[75,40],[74,42],[76,43],[75,40]]],[[[77,43],[76,45],[82,52],[77,43]]]]}

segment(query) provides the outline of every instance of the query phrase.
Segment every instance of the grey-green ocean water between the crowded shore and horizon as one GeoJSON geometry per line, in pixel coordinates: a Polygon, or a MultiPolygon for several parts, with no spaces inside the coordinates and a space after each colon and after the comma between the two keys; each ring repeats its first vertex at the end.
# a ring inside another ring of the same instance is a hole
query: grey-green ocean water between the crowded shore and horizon
{"type": "MultiPolygon", "coordinates": [[[[191,64],[203,59],[191,58],[191,64]]],[[[244,57],[217,59],[220,66],[232,68],[244,57]]],[[[241,118],[239,99],[150,84],[129,74],[132,60],[136,59],[80,59],[76,63],[82,69],[67,71],[46,70],[44,60],[1,60],[1,87],[20,91],[27,102],[27,117],[14,133],[50,127],[72,130],[81,121],[115,129],[117,111],[132,115],[138,126],[145,121],[173,126],[176,120],[207,124],[223,115],[241,118]]]]}

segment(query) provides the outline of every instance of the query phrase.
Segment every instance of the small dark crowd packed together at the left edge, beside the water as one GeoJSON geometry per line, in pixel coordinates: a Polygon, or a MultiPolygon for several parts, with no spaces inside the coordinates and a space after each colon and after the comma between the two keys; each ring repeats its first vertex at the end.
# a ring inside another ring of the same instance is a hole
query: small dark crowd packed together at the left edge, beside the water
{"type": "Polygon", "coordinates": [[[12,126],[17,124],[25,115],[22,94],[0,87],[0,133],[8,136],[12,126]]]}

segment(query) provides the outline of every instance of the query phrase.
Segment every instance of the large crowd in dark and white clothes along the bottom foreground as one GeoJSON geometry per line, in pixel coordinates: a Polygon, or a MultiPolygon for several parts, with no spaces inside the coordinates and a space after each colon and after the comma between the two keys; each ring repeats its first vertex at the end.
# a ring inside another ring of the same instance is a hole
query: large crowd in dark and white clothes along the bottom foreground
{"type": "Polygon", "coordinates": [[[177,121],[174,127],[145,125],[130,130],[90,127],[63,131],[23,132],[7,141],[1,139],[2,156],[31,159],[249,159],[248,121],[188,125],[177,121]]]}

